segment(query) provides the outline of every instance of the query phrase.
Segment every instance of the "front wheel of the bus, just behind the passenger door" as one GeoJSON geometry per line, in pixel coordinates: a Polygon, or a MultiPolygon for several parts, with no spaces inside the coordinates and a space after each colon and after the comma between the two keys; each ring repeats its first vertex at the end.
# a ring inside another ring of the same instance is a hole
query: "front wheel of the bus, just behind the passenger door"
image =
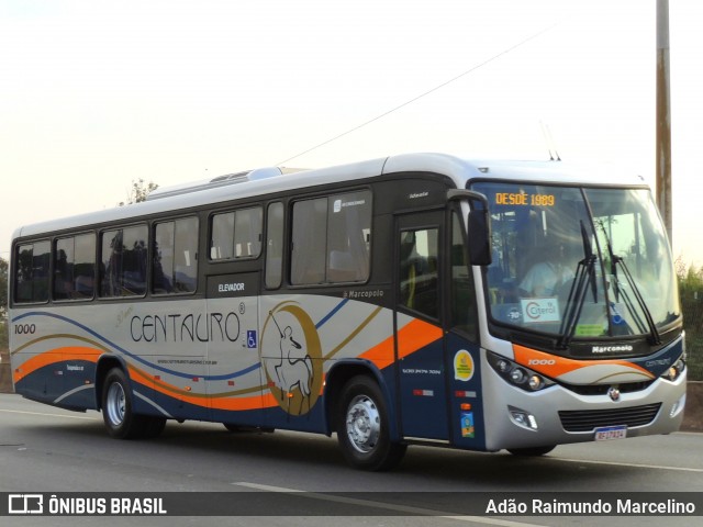
{"type": "Polygon", "coordinates": [[[337,408],[337,439],[352,467],[384,471],[400,463],[408,447],[390,440],[390,418],[376,381],[352,378],[342,389],[337,408]]]}

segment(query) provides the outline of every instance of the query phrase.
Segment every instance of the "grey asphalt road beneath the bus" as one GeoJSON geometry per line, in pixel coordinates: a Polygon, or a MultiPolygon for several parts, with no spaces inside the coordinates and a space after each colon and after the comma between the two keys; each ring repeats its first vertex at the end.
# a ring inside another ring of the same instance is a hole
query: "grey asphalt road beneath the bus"
{"type": "Polygon", "coordinates": [[[453,511],[451,500],[460,496],[456,493],[490,492],[496,497],[511,492],[548,493],[546,495],[554,492],[694,492],[703,495],[703,435],[678,433],[560,446],[543,458],[410,447],[397,470],[367,473],[345,464],[336,438],[279,430],[231,434],[216,424],[169,422],[157,439],[121,441],[108,437],[102,416],[97,412],[66,412],[18,395],[0,394],[0,492],[115,495],[121,492],[224,492],[232,498],[241,498],[244,494],[232,494],[239,492],[249,493],[248,503],[241,503],[261,511],[260,516],[227,518],[9,517],[0,520],[3,526],[610,527],[665,522],[669,527],[695,524],[700,516],[501,519],[450,517],[453,515],[442,511],[443,504],[453,511]],[[271,494],[271,491],[289,493],[271,494]],[[304,491],[304,494],[292,491],[304,491]],[[281,497],[271,498],[271,495],[281,497]],[[378,506],[378,502],[382,505],[378,506]],[[306,514],[309,509],[315,513],[306,514]],[[431,509],[440,513],[423,515],[431,509]]]}

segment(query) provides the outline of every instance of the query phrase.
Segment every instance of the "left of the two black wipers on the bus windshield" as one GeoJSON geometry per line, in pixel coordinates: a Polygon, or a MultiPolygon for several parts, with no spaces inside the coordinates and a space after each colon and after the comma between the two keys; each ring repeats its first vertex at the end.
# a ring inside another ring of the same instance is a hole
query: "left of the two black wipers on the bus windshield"
{"type": "Polygon", "coordinates": [[[573,279],[573,282],[571,282],[571,289],[569,290],[567,311],[563,319],[561,321],[561,327],[559,329],[560,337],[557,341],[557,347],[559,349],[567,349],[569,347],[569,343],[573,339],[576,326],[581,317],[581,311],[583,310],[583,303],[585,302],[589,283],[591,284],[591,291],[593,293],[593,302],[598,302],[598,284],[595,282],[596,258],[593,254],[591,239],[585,232],[583,221],[581,221],[581,238],[583,240],[583,259],[579,261],[576,270],[576,278],[573,279]]]}

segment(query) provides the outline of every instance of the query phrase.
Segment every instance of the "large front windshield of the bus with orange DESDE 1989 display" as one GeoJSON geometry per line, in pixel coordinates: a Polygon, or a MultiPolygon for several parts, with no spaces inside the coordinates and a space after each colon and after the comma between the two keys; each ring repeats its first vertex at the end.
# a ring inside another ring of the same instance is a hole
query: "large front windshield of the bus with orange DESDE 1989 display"
{"type": "Polygon", "coordinates": [[[493,322],[571,339],[647,336],[680,316],[647,189],[479,182],[492,225],[493,322]]]}

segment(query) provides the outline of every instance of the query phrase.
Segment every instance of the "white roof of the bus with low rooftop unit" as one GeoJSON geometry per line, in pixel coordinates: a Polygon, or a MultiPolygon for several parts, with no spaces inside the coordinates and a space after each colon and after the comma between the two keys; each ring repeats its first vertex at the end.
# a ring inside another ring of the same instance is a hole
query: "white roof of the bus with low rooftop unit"
{"type": "Polygon", "coordinates": [[[209,181],[158,189],[150,199],[142,203],[20,227],[14,232],[12,239],[395,172],[442,173],[450,178],[457,188],[466,188],[466,183],[472,179],[487,178],[538,183],[645,186],[643,178],[607,165],[587,167],[565,161],[472,159],[448,154],[402,154],[314,170],[277,167],[257,169],[221,176],[209,181]]]}

